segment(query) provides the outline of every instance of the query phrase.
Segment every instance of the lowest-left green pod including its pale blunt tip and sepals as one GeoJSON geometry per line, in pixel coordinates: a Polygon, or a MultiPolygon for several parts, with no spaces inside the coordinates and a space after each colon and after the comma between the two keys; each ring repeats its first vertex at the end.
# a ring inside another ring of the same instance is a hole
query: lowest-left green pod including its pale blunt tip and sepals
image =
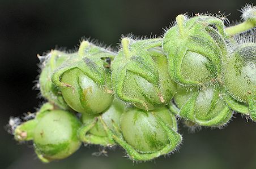
{"type": "Polygon", "coordinates": [[[63,159],[73,154],[81,145],[77,131],[81,123],[74,114],[44,105],[35,119],[15,129],[15,139],[33,140],[35,152],[42,162],[63,159]]]}

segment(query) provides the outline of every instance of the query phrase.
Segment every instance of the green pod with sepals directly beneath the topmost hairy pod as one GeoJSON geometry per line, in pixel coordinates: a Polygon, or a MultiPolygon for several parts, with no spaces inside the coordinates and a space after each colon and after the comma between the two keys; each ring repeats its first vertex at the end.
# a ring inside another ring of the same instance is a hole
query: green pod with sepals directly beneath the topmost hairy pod
{"type": "MultiPolygon", "coordinates": [[[[174,96],[174,102],[180,110],[174,110],[181,118],[199,126],[221,127],[232,117],[232,110],[222,96],[226,95],[220,88],[207,87],[202,90],[180,88],[174,96]]],[[[173,111],[174,110],[174,111],[173,111]]]]}

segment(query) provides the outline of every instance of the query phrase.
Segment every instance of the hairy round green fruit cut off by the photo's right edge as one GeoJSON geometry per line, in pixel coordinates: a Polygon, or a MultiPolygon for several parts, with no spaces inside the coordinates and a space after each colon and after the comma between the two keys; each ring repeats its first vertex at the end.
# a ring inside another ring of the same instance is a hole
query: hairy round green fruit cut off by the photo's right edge
{"type": "Polygon", "coordinates": [[[238,45],[223,62],[225,88],[234,99],[249,105],[249,114],[255,121],[256,43],[238,45]]]}

